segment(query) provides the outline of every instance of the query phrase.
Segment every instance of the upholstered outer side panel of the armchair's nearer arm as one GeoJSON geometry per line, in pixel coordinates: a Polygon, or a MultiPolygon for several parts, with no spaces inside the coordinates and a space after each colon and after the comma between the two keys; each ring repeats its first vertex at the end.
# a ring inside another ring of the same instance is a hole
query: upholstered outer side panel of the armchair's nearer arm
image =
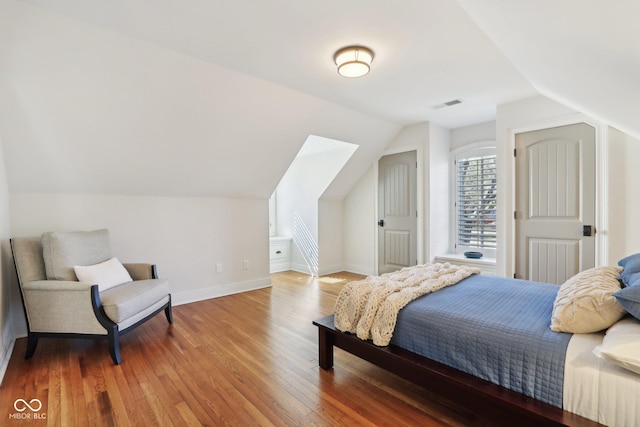
{"type": "MultiPolygon", "coordinates": [[[[22,284],[22,296],[33,332],[100,334],[107,330],[98,322],[88,282],[35,280],[22,284]]],[[[97,288],[96,288],[97,289],[97,288]]]]}

